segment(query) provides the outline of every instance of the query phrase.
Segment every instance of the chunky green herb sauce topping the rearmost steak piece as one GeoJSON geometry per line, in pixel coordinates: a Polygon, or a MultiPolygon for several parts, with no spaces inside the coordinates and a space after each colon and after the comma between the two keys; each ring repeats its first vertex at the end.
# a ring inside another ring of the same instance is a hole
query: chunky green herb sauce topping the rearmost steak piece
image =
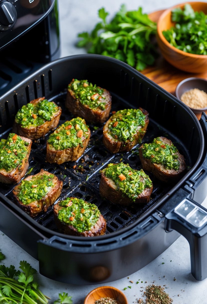
{"type": "Polygon", "coordinates": [[[74,79],[68,85],[68,89],[74,91],[75,98],[83,105],[88,105],[91,109],[100,108],[101,110],[106,110],[106,103],[103,102],[105,97],[102,96],[102,88],[92,85],[87,80],[74,79]]]}

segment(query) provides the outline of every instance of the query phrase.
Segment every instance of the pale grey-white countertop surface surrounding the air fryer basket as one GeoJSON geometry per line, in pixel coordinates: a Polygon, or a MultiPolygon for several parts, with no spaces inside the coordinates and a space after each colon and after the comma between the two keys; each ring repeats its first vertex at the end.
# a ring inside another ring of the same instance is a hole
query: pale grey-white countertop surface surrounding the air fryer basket
{"type": "MultiPolygon", "coordinates": [[[[142,6],[143,11],[147,13],[165,9],[179,2],[177,0],[171,0],[170,2],[165,0],[125,1],[127,9],[136,9],[138,6],[142,6]]],[[[90,31],[93,28],[94,24],[98,22],[98,9],[104,6],[112,17],[122,3],[124,3],[122,0],[105,0],[104,2],[101,0],[59,0],[61,56],[84,54],[85,51],[83,49],[75,47],[77,33],[90,31]]],[[[38,270],[38,261],[2,233],[0,233],[0,250],[6,255],[6,259],[3,261],[5,265],[14,264],[18,267],[20,260],[26,260],[38,270]]],[[[59,292],[65,291],[72,295],[73,304],[81,304],[88,292],[99,286],[73,286],[55,282],[39,274],[36,278],[39,280],[43,292],[51,297],[50,303],[53,303],[53,300],[58,298],[59,292]]],[[[129,304],[132,304],[137,303],[136,299],[139,299],[143,293],[141,291],[144,291],[144,288],[152,282],[155,285],[164,286],[174,304],[207,303],[206,280],[198,282],[192,277],[190,273],[189,245],[182,236],[150,264],[132,275],[129,274],[129,279],[126,277],[104,285],[114,286],[121,290],[131,285],[131,289],[127,288],[123,292],[127,296],[129,304]],[[162,262],[165,264],[162,264],[162,262]],[[139,279],[140,283],[136,284],[139,279]],[[134,281],[134,283],[129,283],[130,280],[134,281]]]]}

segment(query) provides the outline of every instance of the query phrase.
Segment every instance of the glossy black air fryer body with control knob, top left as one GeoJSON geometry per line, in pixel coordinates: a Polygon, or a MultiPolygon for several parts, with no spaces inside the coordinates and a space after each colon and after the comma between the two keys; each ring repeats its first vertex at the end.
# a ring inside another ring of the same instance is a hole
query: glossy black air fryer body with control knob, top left
{"type": "Polygon", "coordinates": [[[0,0],[0,95],[59,55],[57,0],[0,0]]]}

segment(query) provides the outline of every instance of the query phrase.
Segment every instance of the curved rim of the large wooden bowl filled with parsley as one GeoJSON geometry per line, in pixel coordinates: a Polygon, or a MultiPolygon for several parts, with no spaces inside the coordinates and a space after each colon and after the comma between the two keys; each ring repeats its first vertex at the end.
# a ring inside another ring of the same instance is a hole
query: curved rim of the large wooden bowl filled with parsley
{"type": "Polygon", "coordinates": [[[168,40],[164,37],[163,33],[161,32],[161,22],[162,22],[162,19],[168,15],[169,13],[171,13],[172,9],[175,9],[177,7],[183,7],[185,4],[205,4],[206,7],[207,7],[207,2],[184,2],[184,3],[181,3],[181,4],[177,4],[175,6],[172,6],[171,8],[169,9],[166,9],[160,16],[160,18],[158,19],[158,22],[157,22],[157,33],[158,33],[158,36],[160,38],[160,40],[166,44],[171,50],[181,54],[181,55],[184,55],[184,56],[187,56],[187,57],[192,57],[192,58],[199,58],[199,59],[207,59],[207,55],[197,55],[197,54],[191,54],[191,53],[187,53],[187,52],[184,52],[182,50],[179,50],[177,49],[176,47],[173,47],[169,42],[168,40]]]}

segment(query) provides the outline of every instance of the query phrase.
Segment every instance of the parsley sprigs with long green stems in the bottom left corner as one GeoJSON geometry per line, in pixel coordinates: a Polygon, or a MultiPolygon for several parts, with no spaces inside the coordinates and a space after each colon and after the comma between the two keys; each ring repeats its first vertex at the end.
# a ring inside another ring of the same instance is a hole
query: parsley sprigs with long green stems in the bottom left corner
{"type": "Polygon", "coordinates": [[[26,261],[20,261],[16,270],[13,265],[0,265],[0,303],[14,304],[47,304],[48,299],[39,290],[39,285],[33,282],[37,272],[26,261]]]}

